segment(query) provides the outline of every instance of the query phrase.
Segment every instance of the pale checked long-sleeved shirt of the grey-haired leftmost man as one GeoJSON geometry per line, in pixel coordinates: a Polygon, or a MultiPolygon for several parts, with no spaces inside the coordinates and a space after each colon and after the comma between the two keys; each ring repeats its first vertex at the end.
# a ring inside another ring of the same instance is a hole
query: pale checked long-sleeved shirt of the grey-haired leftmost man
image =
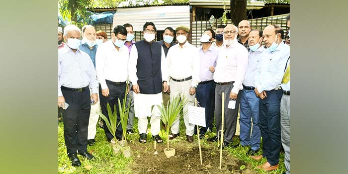
{"type": "Polygon", "coordinates": [[[67,45],[58,50],[58,96],[61,86],[70,88],[89,87],[98,92],[95,70],[88,54],[78,49],[75,53],[67,45]]]}

